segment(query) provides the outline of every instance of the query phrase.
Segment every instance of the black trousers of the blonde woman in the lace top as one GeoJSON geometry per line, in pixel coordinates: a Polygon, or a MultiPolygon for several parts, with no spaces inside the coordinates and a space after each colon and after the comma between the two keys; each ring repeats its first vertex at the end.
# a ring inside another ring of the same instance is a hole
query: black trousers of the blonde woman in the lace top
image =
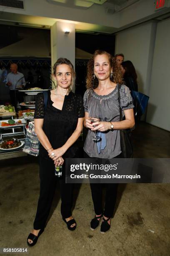
{"type": "Polygon", "coordinates": [[[51,159],[40,156],[40,197],[34,220],[34,229],[45,227],[52,199],[54,197],[57,180],[60,183],[61,215],[63,218],[71,216],[73,184],[65,183],[65,165],[62,167],[62,177],[55,177],[55,166],[51,159]]]}

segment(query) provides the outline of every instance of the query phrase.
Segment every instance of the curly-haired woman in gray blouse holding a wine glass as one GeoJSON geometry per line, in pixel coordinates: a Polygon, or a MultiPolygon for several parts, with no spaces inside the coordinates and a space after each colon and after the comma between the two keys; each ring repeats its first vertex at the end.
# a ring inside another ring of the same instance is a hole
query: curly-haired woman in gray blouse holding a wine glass
{"type": "MultiPolygon", "coordinates": [[[[85,157],[99,159],[122,157],[119,130],[133,127],[135,121],[130,90],[121,83],[122,76],[116,60],[106,51],[95,51],[87,66],[87,91],[84,95],[84,125],[88,128],[84,145],[85,157]],[[121,84],[120,105],[118,84],[121,84]],[[119,119],[120,107],[125,117],[123,121],[119,119]],[[97,132],[96,140],[93,139],[94,131],[97,132]]],[[[102,184],[90,183],[90,187],[95,209],[95,218],[90,223],[91,229],[97,228],[103,215],[100,232],[105,233],[110,229],[110,218],[113,215],[116,202],[117,184],[106,184],[104,212],[102,210],[102,184]]]]}

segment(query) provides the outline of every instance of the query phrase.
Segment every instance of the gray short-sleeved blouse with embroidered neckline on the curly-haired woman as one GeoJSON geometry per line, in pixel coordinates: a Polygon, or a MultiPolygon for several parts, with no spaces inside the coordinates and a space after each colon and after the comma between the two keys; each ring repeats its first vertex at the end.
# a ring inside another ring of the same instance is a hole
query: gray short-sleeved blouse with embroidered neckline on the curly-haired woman
{"type": "MultiPolygon", "coordinates": [[[[85,112],[88,112],[89,116],[100,118],[101,121],[106,122],[117,122],[120,120],[118,84],[115,89],[107,95],[98,95],[92,89],[88,89],[84,94],[83,100],[85,112]]],[[[134,108],[130,90],[124,84],[120,86],[120,106],[122,108],[122,116],[124,116],[123,110],[134,108]]],[[[106,146],[98,153],[97,143],[91,139],[92,136],[94,136],[94,132],[88,129],[84,145],[84,151],[88,156],[111,159],[121,153],[120,131],[108,130],[104,133],[106,146]]]]}

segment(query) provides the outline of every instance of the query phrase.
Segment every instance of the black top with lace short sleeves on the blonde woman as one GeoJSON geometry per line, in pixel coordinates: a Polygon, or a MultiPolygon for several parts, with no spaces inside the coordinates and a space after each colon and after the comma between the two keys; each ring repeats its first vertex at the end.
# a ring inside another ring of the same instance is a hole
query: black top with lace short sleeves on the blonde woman
{"type": "MultiPolygon", "coordinates": [[[[34,118],[43,118],[42,129],[49,139],[51,146],[56,149],[65,144],[67,139],[72,135],[77,127],[78,118],[84,117],[83,100],[80,95],[70,92],[65,96],[62,110],[52,106],[53,102],[48,91],[47,108],[45,110],[44,95],[38,93],[35,102],[34,118]]],[[[73,157],[77,151],[74,143],[63,155],[63,157],[73,157]]],[[[48,157],[45,148],[40,145],[40,154],[48,157]]]]}

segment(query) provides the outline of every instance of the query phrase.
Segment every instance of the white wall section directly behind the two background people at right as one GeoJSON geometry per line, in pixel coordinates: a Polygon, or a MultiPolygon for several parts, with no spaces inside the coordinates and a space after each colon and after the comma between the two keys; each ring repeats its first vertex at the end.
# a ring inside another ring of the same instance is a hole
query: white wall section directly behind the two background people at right
{"type": "Polygon", "coordinates": [[[138,75],[139,91],[149,95],[157,23],[145,23],[116,35],[115,54],[123,53],[138,75]]]}

